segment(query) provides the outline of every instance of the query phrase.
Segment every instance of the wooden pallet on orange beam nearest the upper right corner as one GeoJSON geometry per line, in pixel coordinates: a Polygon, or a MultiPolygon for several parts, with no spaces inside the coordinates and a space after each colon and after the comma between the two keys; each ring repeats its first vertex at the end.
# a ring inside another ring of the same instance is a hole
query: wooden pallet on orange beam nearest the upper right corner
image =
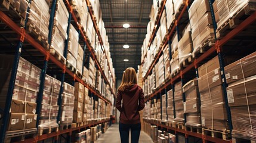
{"type": "Polygon", "coordinates": [[[230,32],[230,30],[234,29],[236,26],[242,23],[243,20],[240,20],[240,18],[248,17],[248,15],[251,15],[252,12],[255,10],[256,4],[250,3],[249,5],[246,5],[245,7],[237,11],[233,15],[233,17],[227,19],[227,21],[225,21],[224,23],[221,23],[221,25],[218,26],[218,29],[216,30],[217,39],[221,39],[226,36],[227,33],[230,32]]]}

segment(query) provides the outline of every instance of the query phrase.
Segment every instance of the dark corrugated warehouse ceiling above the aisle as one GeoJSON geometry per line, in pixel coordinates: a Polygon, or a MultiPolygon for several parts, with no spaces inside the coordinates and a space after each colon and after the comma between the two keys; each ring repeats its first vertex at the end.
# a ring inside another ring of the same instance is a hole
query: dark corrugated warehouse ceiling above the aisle
{"type": "Polygon", "coordinates": [[[138,70],[152,4],[152,0],[100,0],[117,79],[122,79],[127,67],[138,70]],[[125,29],[122,27],[124,23],[130,27],[125,29]],[[129,45],[128,49],[123,48],[125,44],[129,45]],[[129,61],[124,62],[124,58],[129,61]]]}

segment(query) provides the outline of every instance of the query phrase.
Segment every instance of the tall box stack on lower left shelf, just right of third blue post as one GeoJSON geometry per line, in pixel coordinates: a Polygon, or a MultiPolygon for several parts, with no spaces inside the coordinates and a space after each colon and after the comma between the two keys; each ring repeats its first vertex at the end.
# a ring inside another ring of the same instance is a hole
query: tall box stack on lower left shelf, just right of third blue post
{"type": "Polygon", "coordinates": [[[70,129],[72,126],[75,103],[74,91],[74,86],[66,82],[63,83],[60,129],[70,129]]]}

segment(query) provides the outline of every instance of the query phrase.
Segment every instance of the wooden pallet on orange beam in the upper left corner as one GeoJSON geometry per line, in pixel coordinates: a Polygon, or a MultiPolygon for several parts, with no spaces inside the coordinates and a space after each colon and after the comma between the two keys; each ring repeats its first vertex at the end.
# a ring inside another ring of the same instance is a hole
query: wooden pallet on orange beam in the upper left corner
{"type": "Polygon", "coordinates": [[[10,17],[18,26],[23,27],[25,25],[26,12],[21,13],[18,7],[11,5],[10,1],[4,0],[0,3],[0,10],[10,17]]]}

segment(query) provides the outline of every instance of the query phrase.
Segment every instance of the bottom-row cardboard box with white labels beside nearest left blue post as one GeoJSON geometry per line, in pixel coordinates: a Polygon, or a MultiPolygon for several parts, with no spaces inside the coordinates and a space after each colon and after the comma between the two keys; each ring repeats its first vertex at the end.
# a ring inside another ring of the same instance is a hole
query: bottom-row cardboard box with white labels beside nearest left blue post
{"type": "Polygon", "coordinates": [[[7,130],[22,130],[24,128],[25,119],[24,113],[10,113],[10,120],[7,130]]]}

